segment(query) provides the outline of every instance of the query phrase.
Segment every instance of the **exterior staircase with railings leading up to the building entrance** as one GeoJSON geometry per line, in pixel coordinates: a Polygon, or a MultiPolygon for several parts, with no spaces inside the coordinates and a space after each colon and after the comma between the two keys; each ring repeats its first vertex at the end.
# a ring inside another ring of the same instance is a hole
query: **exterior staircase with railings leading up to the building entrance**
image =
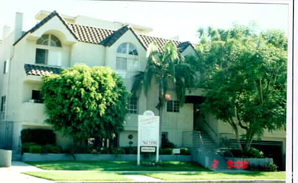
{"type": "Polygon", "coordinates": [[[229,150],[222,150],[205,131],[193,131],[193,160],[212,170],[230,170],[228,160],[233,156],[229,150]]]}

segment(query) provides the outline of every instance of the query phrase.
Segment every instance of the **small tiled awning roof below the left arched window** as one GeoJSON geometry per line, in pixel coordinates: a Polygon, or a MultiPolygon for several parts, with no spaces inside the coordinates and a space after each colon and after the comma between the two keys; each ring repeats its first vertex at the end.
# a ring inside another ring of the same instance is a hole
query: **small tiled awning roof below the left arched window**
{"type": "Polygon", "coordinates": [[[59,74],[61,72],[60,68],[37,66],[32,64],[25,64],[24,69],[27,75],[34,76],[46,76],[49,74],[59,74]]]}

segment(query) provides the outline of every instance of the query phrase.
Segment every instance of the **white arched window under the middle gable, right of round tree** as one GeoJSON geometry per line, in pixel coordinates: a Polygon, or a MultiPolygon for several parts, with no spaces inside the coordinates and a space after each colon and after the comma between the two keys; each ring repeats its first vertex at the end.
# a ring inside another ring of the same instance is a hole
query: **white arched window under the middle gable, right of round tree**
{"type": "Polygon", "coordinates": [[[116,71],[123,78],[131,78],[139,70],[138,51],[130,43],[123,43],[117,48],[116,71]]]}

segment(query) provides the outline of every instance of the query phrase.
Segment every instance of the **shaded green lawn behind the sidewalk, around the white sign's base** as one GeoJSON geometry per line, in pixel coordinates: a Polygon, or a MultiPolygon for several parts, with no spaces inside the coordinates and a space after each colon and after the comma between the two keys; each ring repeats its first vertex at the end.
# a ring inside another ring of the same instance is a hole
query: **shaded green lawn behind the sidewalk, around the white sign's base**
{"type": "Polygon", "coordinates": [[[26,162],[44,170],[98,170],[98,171],[209,171],[194,162],[164,162],[163,167],[137,166],[128,161],[47,161],[26,162]]]}

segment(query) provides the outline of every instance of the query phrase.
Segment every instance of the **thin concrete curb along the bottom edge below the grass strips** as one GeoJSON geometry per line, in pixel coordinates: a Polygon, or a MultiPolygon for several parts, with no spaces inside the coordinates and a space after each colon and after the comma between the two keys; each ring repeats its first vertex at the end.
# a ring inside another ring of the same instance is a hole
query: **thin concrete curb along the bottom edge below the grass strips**
{"type": "Polygon", "coordinates": [[[54,181],[54,183],[285,183],[286,180],[263,180],[263,179],[250,179],[250,180],[178,180],[178,181],[54,181]]]}

